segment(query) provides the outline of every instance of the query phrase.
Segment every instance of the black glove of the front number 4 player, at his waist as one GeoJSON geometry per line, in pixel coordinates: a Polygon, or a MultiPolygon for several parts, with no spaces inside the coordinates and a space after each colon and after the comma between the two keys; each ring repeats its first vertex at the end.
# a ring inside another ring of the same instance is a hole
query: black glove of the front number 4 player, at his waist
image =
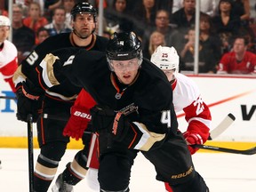
{"type": "Polygon", "coordinates": [[[92,115],[92,132],[112,129],[116,113],[113,109],[96,105],[90,110],[92,115]]]}

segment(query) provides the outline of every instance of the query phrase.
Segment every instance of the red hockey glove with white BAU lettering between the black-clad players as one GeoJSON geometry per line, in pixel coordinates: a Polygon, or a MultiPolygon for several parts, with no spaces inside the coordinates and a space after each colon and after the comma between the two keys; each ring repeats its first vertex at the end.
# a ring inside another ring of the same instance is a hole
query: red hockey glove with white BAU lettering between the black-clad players
{"type": "Polygon", "coordinates": [[[88,108],[79,108],[73,106],[71,108],[71,116],[68,119],[63,135],[70,136],[76,140],[82,138],[84,130],[87,128],[88,123],[91,121],[92,116],[88,108]]]}

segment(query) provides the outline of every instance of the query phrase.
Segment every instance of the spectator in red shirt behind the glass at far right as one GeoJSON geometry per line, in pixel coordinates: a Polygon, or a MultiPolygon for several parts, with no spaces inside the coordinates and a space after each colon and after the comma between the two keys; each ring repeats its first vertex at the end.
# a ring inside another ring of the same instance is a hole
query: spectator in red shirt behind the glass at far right
{"type": "Polygon", "coordinates": [[[247,44],[244,36],[236,37],[233,51],[222,56],[217,74],[256,75],[256,55],[247,51],[247,44]]]}

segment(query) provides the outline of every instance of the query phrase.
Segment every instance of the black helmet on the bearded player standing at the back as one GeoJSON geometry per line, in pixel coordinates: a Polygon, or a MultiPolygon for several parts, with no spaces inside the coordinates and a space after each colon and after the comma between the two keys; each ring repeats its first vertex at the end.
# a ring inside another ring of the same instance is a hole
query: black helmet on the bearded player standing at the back
{"type": "Polygon", "coordinates": [[[70,14],[72,16],[72,20],[76,19],[76,14],[81,14],[83,12],[92,14],[93,20],[94,20],[94,22],[96,22],[97,11],[92,6],[92,4],[87,3],[87,2],[79,2],[74,5],[74,7],[72,8],[72,10],[70,12],[70,14]]]}

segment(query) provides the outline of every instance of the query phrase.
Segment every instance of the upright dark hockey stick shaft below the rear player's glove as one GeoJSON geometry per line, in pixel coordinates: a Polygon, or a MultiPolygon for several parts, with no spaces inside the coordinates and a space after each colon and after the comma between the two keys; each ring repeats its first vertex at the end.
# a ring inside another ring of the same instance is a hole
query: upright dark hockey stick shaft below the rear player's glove
{"type": "Polygon", "coordinates": [[[34,191],[33,117],[28,114],[28,174],[29,192],[34,191]]]}

